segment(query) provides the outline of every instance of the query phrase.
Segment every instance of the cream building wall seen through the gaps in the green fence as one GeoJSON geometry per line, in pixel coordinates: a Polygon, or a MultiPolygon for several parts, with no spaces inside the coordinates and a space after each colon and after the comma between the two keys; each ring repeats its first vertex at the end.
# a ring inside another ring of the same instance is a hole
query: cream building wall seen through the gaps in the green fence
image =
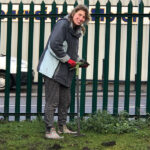
{"type": "MultiPolygon", "coordinates": [[[[2,2],[2,0],[0,0],[2,2]]],[[[116,0],[113,0],[113,4],[115,4],[116,0]]],[[[5,1],[6,2],[6,1],[5,1]]],[[[14,2],[14,1],[12,1],[14,2]]],[[[27,1],[26,2],[30,2],[27,1]]],[[[39,2],[39,1],[35,1],[39,2]]],[[[60,1],[59,1],[60,2],[60,1]]],[[[67,1],[67,2],[72,2],[67,1]]],[[[80,1],[81,2],[81,1],[80,1]]],[[[90,1],[91,2],[91,1],[90,1]]],[[[103,3],[106,2],[105,0],[103,3]]],[[[117,1],[116,1],[117,2],[117,1]]],[[[127,2],[127,1],[126,1],[127,2]]],[[[145,0],[147,4],[150,2],[145,0]]],[[[94,0],[93,0],[94,3],[94,0]]],[[[134,1],[134,4],[137,4],[137,1],[134,1]]],[[[93,6],[94,7],[94,6],[93,6]]],[[[114,9],[116,9],[114,7],[114,9]]],[[[124,8],[127,10],[127,7],[124,8]]],[[[137,12],[137,7],[134,9],[137,12]]],[[[147,7],[146,13],[150,12],[150,7],[147,7]]],[[[99,71],[98,78],[102,79],[102,70],[103,70],[103,59],[105,53],[105,22],[101,22],[100,24],[100,38],[99,38],[99,71]]],[[[87,79],[93,78],[93,58],[94,58],[94,35],[95,35],[95,24],[94,22],[90,22],[88,26],[88,52],[87,52],[87,60],[90,63],[90,66],[87,69],[87,79]]],[[[46,22],[45,24],[45,45],[47,39],[50,34],[51,25],[50,22],[46,22]]],[[[24,21],[23,23],[23,52],[22,58],[27,60],[28,57],[28,30],[29,30],[29,22],[24,21]]],[[[35,21],[34,23],[34,45],[33,45],[33,69],[36,72],[35,81],[37,81],[37,64],[39,58],[39,34],[40,34],[40,25],[39,21],[35,21]]],[[[18,32],[18,23],[16,20],[12,23],[12,56],[17,56],[17,32],[18,32]]],[[[122,21],[121,27],[121,53],[120,53],[120,80],[125,79],[125,68],[126,68],[126,42],[127,42],[127,24],[122,21]]],[[[2,21],[1,24],[1,44],[0,44],[0,53],[5,53],[6,51],[6,36],[7,36],[7,20],[2,21]]],[[[148,68],[148,41],[149,41],[149,21],[145,21],[144,29],[143,29],[143,54],[142,54],[142,80],[147,80],[147,68],[148,68]]],[[[114,68],[115,68],[115,40],[116,40],[116,23],[115,21],[111,23],[111,32],[110,32],[110,59],[109,59],[109,80],[114,79],[114,68]]],[[[134,23],[132,27],[132,51],[131,51],[131,80],[135,80],[136,73],[136,49],[137,49],[137,22],[134,23]]],[[[79,55],[82,57],[82,38],[80,39],[79,45],[79,55]]]]}

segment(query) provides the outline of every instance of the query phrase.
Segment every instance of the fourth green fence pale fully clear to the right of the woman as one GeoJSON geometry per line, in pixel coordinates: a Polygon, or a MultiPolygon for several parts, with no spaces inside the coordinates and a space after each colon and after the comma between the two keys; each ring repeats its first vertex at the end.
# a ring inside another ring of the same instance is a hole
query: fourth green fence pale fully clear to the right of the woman
{"type": "MultiPolygon", "coordinates": [[[[128,13],[132,14],[132,1],[128,4],[128,13]]],[[[131,68],[131,39],[132,39],[132,17],[128,17],[127,25],[127,49],[126,49],[126,77],[125,77],[125,105],[124,110],[129,112],[130,94],[130,68],[131,68]]]]}

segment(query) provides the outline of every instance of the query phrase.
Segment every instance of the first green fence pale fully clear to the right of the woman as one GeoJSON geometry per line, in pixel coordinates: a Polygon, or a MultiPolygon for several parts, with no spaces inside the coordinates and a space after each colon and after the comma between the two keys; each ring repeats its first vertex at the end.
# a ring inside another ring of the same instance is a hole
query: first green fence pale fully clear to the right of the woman
{"type": "MultiPolygon", "coordinates": [[[[95,13],[99,13],[100,2],[96,3],[95,13]]],[[[94,39],[94,66],[93,66],[93,96],[92,96],[92,113],[97,110],[97,86],[98,86],[98,57],[99,57],[99,21],[100,17],[95,17],[95,39],[94,39]]]]}

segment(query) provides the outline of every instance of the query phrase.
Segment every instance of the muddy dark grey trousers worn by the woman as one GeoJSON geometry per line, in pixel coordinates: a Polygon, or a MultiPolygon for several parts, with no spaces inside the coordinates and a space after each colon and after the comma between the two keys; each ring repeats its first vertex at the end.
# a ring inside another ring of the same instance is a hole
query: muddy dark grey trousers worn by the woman
{"type": "Polygon", "coordinates": [[[44,77],[45,79],[45,115],[44,121],[46,128],[53,127],[54,113],[58,108],[58,126],[66,124],[67,112],[70,106],[70,88],[58,82],[44,77]]]}

